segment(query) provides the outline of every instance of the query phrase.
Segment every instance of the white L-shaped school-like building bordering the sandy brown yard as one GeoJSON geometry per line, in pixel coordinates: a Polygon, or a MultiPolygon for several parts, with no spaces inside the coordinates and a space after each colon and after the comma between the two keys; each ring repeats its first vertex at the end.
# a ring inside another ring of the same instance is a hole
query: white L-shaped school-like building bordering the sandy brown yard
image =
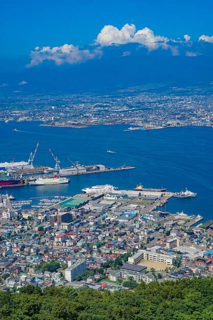
{"type": "Polygon", "coordinates": [[[138,250],[134,256],[128,258],[130,264],[138,264],[141,260],[149,260],[172,266],[173,257],[150,252],[148,250],[138,250]]]}

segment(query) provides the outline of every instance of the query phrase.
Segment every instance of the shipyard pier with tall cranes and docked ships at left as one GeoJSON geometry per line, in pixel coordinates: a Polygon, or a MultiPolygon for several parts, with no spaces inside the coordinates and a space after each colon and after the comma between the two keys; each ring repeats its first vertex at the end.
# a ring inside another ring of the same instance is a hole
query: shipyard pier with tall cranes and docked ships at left
{"type": "Polygon", "coordinates": [[[80,165],[79,161],[74,163],[68,157],[67,159],[72,164],[72,166],[68,168],[61,168],[59,158],[53,154],[52,150],[49,147],[48,150],[50,151],[55,161],[55,167],[51,168],[48,166],[34,166],[33,162],[38,146],[39,141],[35,147],[34,153],[30,153],[28,162],[14,162],[13,159],[13,161],[11,161],[10,163],[0,163],[0,177],[2,178],[0,179],[0,188],[22,187],[35,184],[43,185],[45,183],[68,183],[69,179],[66,179],[65,176],[135,169],[135,167],[133,166],[126,165],[123,165],[119,168],[105,167],[104,165],[80,165]],[[38,182],[39,179],[40,183],[38,182]],[[46,182],[43,182],[42,179],[46,179],[46,182]]]}

